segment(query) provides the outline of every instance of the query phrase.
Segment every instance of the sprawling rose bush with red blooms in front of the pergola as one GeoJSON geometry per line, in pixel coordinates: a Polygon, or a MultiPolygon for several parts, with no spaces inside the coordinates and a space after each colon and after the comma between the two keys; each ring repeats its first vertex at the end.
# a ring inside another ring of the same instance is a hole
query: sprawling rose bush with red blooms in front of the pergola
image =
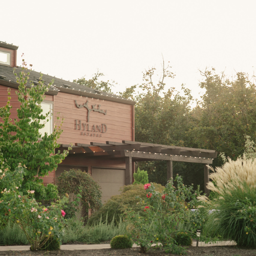
{"type": "Polygon", "coordinates": [[[143,213],[136,213],[133,209],[126,211],[127,230],[142,252],[146,252],[152,243],[165,245],[168,252],[184,252],[182,247],[176,246],[174,237],[178,225],[185,220],[188,211],[185,200],[190,200],[193,189],[184,186],[178,175],[176,181],[177,188],[171,179],[163,193],[155,191],[153,184],[145,184],[147,197],[140,200],[143,213]]]}

